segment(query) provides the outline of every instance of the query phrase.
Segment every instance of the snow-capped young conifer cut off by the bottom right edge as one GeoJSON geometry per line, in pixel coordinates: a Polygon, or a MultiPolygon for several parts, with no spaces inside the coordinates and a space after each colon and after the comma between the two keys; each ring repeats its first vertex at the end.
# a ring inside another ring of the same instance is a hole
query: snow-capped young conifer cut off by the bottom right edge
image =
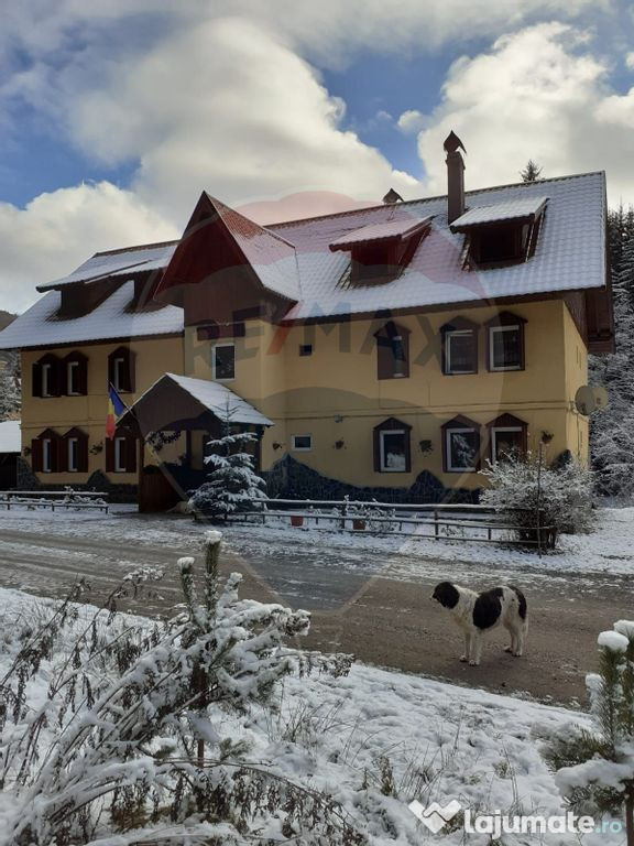
{"type": "Polygon", "coordinates": [[[634,622],[619,620],[599,636],[599,673],[587,676],[593,730],[571,729],[545,758],[575,811],[619,813],[625,805],[634,842],[634,622]]]}

